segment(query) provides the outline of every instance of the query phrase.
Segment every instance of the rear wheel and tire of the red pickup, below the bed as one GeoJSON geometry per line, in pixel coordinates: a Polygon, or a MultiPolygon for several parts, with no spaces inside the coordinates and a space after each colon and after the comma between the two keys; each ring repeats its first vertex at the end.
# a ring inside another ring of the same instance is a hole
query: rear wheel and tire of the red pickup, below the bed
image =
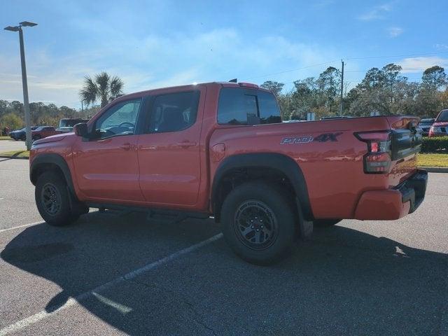
{"type": "Polygon", "coordinates": [[[240,258],[269,265],[285,255],[297,230],[295,209],[276,186],[258,181],[232,190],[223,202],[225,240],[240,258]]]}

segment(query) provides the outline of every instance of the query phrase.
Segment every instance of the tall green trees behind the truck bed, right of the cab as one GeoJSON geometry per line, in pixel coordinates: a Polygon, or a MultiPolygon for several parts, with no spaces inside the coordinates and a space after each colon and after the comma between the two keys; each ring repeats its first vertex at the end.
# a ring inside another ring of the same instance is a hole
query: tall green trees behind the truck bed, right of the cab
{"type": "MultiPolygon", "coordinates": [[[[426,69],[420,83],[409,81],[401,71],[402,67],[393,63],[368,70],[363,80],[344,94],[342,115],[370,116],[375,112],[435,118],[440,110],[448,108],[444,68],[426,69]]],[[[283,120],[306,120],[309,112],[316,113],[317,119],[339,115],[341,78],[341,71],[330,66],[317,78],[295,80],[289,92],[283,92],[284,83],[272,80],[261,87],[276,94],[283,120]]]]}

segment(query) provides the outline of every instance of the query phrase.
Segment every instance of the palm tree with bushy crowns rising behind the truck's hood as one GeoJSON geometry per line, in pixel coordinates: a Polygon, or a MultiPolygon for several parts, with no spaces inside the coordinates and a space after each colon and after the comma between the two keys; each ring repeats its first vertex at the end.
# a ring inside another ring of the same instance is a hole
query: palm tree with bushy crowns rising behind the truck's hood
{"type": "Polygon", "coordinates": [[[119,94],[123,94],[124,85],[121,78],[118,76],[111,77],[109,73],[103,71],[95,75],[94,80],[90,76],[85,76],[84,86],[79,95],[87,105],[101,100],[101,107],[103,108],[119,94]]]}

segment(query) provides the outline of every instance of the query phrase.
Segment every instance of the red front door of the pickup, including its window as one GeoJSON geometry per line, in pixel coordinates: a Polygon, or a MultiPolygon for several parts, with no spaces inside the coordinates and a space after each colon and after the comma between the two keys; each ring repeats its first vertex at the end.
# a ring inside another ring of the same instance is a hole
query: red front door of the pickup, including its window
{"type": "Polygon", "coordinates": [[[141,98],[114,104],[97,120],[94,139],[78,137],[73,161],[80,191],[102,202],[143,201],[135,134],[141,98]]]}

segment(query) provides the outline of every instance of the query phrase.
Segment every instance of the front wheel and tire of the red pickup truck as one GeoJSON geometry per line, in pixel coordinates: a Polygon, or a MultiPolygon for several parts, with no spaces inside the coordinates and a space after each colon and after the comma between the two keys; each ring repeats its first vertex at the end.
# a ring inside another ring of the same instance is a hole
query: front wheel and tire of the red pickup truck
{"type": "Polygon", "coordinates": [[[50,225],[69,225],[80,216],[71,212],[69,190],[57,172],[46,172],[38,177],[34,197],[39,214],[50,225]]]}

